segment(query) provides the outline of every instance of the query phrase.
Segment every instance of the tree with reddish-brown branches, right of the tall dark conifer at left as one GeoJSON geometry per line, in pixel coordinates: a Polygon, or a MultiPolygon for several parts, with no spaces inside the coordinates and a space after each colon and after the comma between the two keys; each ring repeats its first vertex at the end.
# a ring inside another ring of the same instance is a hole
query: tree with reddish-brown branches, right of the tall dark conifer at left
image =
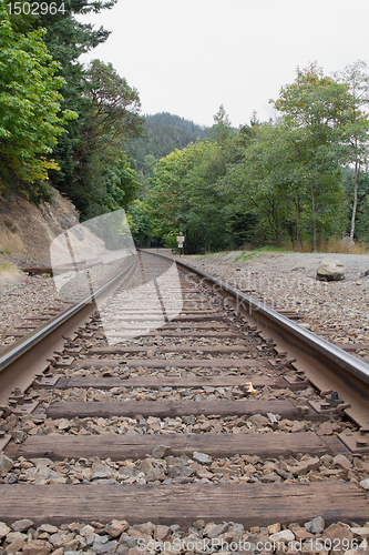
{"type": "MultiPolygon", "coordinates": [[[[137,91],[116,73],[111,63],[91,62],[84,74],[82,93],[85,105],[79,137],[74,142],[62,144],[63,157],[66,152],[69,157],[63,158],[62,175],[53,174],[53,180],[73,200],[82,219],[86,219],[111,206],[111,201],[106,201],[111,189],[106,173],[119,173],[122,159],[124,164],[127,163],[123,140],[140,135],[143,118],[139,115],[137,91]]],[[[134,175],[135,181],[135,172],[134,175]]],[[[122,193],[115,194],[115,201],[117,196],[123,198],[122,193]]]]}

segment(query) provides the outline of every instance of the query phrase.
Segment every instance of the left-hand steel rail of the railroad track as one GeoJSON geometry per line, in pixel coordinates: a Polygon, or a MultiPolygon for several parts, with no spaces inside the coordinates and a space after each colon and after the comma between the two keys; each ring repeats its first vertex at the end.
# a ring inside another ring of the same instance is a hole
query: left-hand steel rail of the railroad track
{"type": "Polygon", "coordinates": [[[50,357],[54,351],[62,347],[65,342],[63,335],[72,333],[73,330],[83,323],[89,314],[96,310],[98,306],[94,300],[107,296],[109,292],[115,289],[117,282],[134,268],[136,256],[133,252],[132,255],[134,260],[98,291],[89,294],[61,314],[52,316],[48,322],[41,324],[1,352],[0,403],[7,402],[9,394],[16,386],[24,390],[30,385],[34,375],[40,372],[40,366],[47,362],[47,357],[50,357]],[[33,347],[41,343],[44,343],[43,349],[34,355],[33,353],[37,350],[33,347]],[[28,369],[27,372],[24,372],[24,366],[28,369]]]}

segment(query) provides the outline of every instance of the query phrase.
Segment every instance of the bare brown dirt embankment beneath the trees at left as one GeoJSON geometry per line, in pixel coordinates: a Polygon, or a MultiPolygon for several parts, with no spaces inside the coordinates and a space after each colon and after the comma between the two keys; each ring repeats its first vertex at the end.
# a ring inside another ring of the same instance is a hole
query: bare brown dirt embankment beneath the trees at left
{"type": "Polygon", "coordinates": [[[50,244],[79,222],[75,206],[53,189],[51,204],[39,208],[8,194],[0,196],[0,265],[50,266],[50,244]]]}

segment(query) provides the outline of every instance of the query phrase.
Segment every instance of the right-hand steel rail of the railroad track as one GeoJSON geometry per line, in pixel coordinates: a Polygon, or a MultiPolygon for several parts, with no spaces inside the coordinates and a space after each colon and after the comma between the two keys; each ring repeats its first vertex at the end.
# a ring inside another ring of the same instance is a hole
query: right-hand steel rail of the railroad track
{"type": "Polygon", "coordinates": [[[296,360],[293,363],[295,369],[305,373],[322,396],[331,391],[337,392],[342,398],[338,410],[369,431],[369,365],[366,362],[301,327],[250,295],[177,258],[144,252],[174,260],[180,266],[216,285],[222,294],[228,293],[227,301],[234,305],[236,312],[249,324],[257,325],[265,336],[270,337],[278,352],[287,351],[296,360]]]}

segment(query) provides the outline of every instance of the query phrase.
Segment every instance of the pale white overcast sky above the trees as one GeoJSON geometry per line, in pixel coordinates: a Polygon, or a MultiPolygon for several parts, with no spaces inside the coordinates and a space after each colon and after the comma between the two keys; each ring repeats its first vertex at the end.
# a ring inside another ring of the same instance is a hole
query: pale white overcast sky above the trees
{"type": "Polygon", "coordinates": [[[234,127],[317,61],[326,74],[369,63],[368,0],[117,0],[79,18],[112,31],[83,56],[111,62],[139,90],[142,113],[212,125],[224,104],[234,127]]]}

